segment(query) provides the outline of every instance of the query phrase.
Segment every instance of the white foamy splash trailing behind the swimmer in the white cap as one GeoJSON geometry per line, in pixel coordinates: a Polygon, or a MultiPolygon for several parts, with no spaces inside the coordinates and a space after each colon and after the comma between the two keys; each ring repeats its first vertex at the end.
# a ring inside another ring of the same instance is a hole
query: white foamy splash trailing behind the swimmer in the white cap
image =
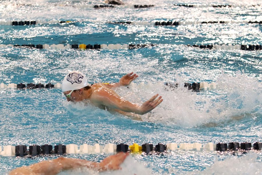
{"type": "Polygon", "coordinates": [[[221,74],[218,92],[199,94],[184,88],[185,80],[174,77],[179,87],[164,90],[163,83],[132,83],[129,89],[116,90],[124,99],[142,104],[158,93],[163,102],[151,113],[142,115],[144,121],[178,124],[185,127],[213,126],[231,120],[240,120],[250,113],[261,113],[262,85],[255,78],[238,73],[221,74]],[[225,88],[224,88],[225,87],[225,88]]]}

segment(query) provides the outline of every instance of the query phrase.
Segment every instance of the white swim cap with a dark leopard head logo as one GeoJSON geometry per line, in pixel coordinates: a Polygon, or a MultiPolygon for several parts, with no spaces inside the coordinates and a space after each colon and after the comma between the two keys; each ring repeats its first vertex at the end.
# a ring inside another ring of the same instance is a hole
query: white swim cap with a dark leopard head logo
{"type": "Polygon", "coordinates": [[[79,71],[69,72],[62,82],[62,91],[77,90],[88,85],[87,78],[79,71]]]}

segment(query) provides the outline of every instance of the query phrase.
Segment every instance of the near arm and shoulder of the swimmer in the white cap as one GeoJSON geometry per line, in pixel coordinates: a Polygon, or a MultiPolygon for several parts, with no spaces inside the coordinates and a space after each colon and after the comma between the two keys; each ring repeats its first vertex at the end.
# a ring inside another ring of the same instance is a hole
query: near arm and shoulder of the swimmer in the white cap
{"type": "Polygon", "coordinates": [[[89,100],[96,106],[104,105],[110,109],[121,110],[123,112],[131,112],[143,115],[152,111],[162,101],[162,96],[154,95],[141,106],[124,100],[116,92],[102,83],[92,85],[92,91],[89,100]]]}

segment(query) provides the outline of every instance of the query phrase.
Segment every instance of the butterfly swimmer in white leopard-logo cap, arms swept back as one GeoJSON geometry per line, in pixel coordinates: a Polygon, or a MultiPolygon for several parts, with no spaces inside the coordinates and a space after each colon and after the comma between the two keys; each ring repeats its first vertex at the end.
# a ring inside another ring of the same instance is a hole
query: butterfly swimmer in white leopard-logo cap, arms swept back
{"type": "Polygon", "coordinates": [[[102,109],[121,113],[135,120],[141,120],[141,116],[152,111],[162,101],[162,96],[154,95],[141,106],[124,100],[112,88],[128,86],[138,77],[133,72],[123,76],[118,83],[95,83],[88,85],[87,78],[79,71],[72,71],[65,76],[62,83],[62,91],[67,101],[90,101],[91,104],[102,109]],[[138,114],[138,115],[134,115],[138,114]]]}

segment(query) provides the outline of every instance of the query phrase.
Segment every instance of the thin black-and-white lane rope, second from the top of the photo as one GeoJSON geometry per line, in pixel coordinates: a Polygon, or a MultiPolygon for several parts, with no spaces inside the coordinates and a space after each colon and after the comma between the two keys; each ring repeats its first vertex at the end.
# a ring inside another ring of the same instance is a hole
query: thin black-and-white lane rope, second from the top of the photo
{"type": "MultiPolygon", "coordinates": [[[[36,24],[65,24],[65,23],[75,23],[75,22],[85,22],[85,21],[1,21],[0,25],[11,25],[11,26],[28,26],[36,24]]],[[[98,23],[104,23],[97,21],[98,23]]],[[[120,22],[108,22],[111,24],[131,24],[131,25],[144,25],[144,26],[178,26],[178,25],[197,25],[197,24],[262,24],[262,20],[256,21],[155,21],[155,22],[130,22],[130,21],[120,21],[120,22]]]]}

